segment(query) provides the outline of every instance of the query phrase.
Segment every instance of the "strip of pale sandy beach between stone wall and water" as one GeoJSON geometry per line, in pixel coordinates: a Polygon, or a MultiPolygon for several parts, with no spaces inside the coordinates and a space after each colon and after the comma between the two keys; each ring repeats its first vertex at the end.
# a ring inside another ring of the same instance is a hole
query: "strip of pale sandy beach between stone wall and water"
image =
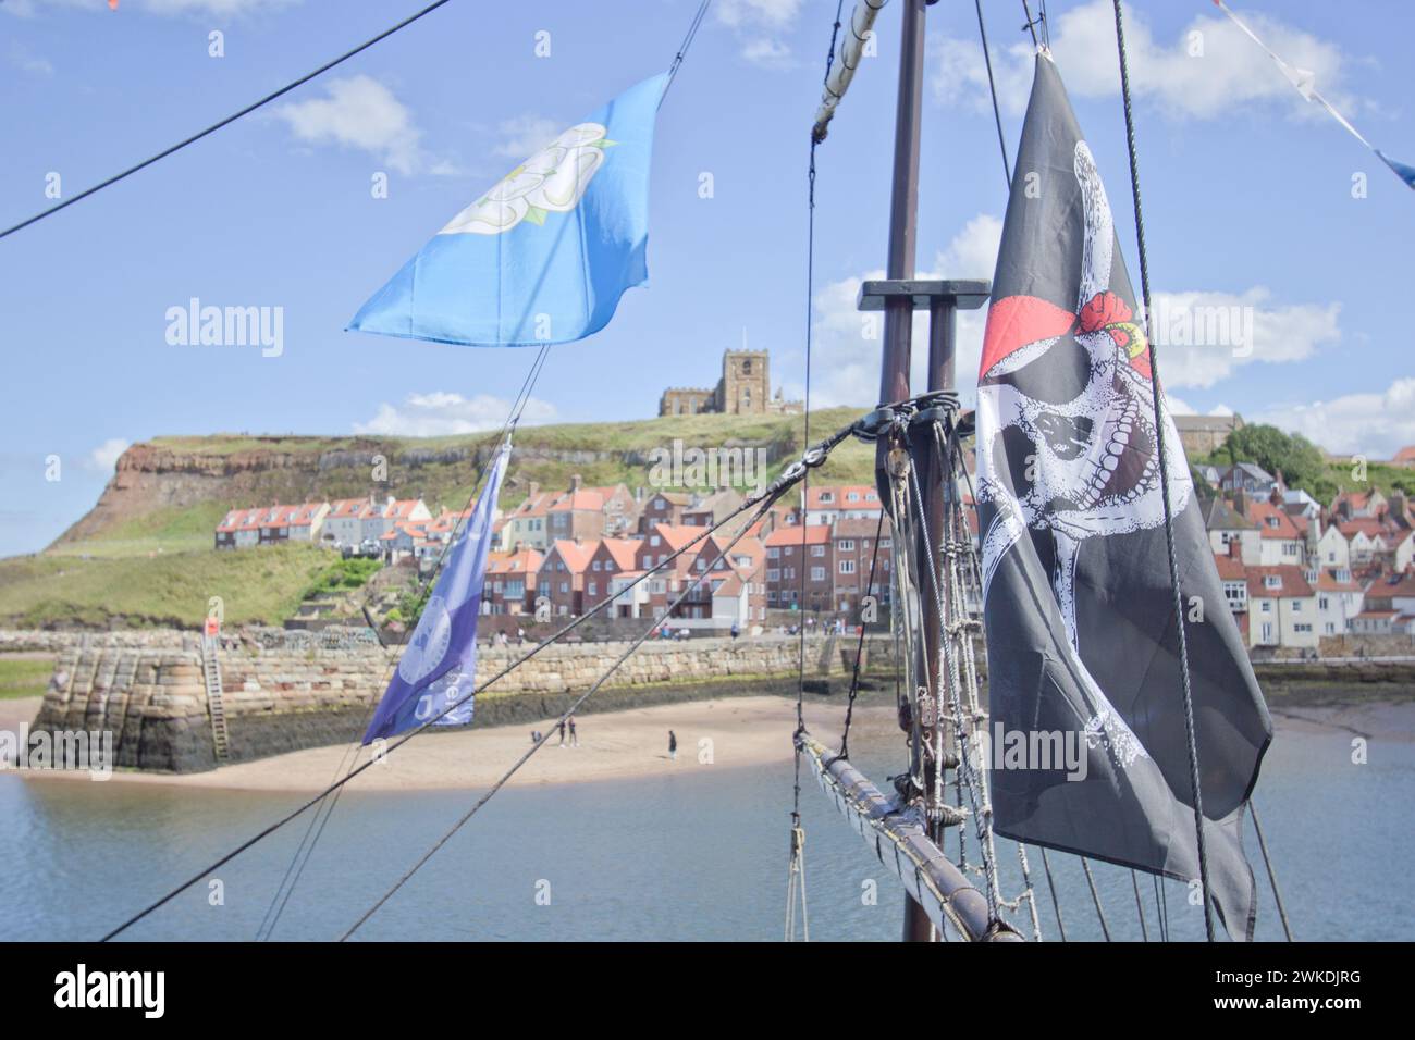
{"type": "MultiPolygon", "coordinates": [[[[28,722],[38,698],[0,702],[0,729],[28,722]]],[[[1339,705],[1269,705],[1281,734],[1351,734],[1415,743],[1415,702],[1363,700],[1339,705]]],[[[808,699],[807,726],[832,740],[841,730],[845,699],[808,699]]],[[[531,747],[531,730],[549,733],[553,719],[538,723],[429,733],[416,750],[405,749],[369,767],[348,784],[350,791],[398,792],[478,790],[497,782],[531,747]]],[[[631,707],[582,715],[576,719],[580,744],[559,746],[550,733],[545,746],[507,782],[508,787],[633,780],[695,773],[705,768],[743,768],[791,760],[795,700],[778,695],[733,696],[631,707]],[[668,730],[678,734],[678,758],[669,760],[668,730]]],[[[897,736],[894,706],[860,700],[855,706],[853,736],[897,736]]],[[[348,768],[347,746],[314,747],[205,773],[140,773],[115,770],[109,780],[123,785],[313,794],[348,768]]],[[[366,761],[361,751],[357,763],[366,761]]],[[[96,782],[82,771],[0,770],[40,782],[96,782]]]]}

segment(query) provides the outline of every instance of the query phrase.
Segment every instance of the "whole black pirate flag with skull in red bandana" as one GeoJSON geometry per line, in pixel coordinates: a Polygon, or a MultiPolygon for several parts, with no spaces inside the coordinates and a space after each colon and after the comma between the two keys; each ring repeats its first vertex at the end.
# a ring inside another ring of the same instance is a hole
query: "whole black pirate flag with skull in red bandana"
{"type": "MultiPolygon", "coordinates": [[[[1036,65],[978,376],[996,829],[1187,882],[1200,866],[1149,344],[1091,149],[1050,57],[1036,65]]],[[[1240,829],[1272,723],[1163,423],[1210,894],[1247,940],[1240,829]]]]}

